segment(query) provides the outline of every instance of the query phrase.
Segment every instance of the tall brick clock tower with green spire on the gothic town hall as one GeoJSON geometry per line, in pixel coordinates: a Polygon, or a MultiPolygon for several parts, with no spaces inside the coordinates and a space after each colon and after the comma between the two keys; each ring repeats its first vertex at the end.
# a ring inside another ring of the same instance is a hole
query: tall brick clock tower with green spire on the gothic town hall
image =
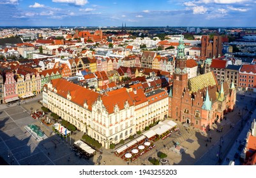
{"type": "MultiPolygon", "coordinates": [[[[174,71],[174,83],[173,92],[176,93],[178,90],[183,92],[183,89],[188,85],[188,71],[186,68],[186,55],[184,53],[184,42],[183,35],[179,39],[179,46],[177,46],[177,57],[176,57],[176,69],[174,71]]],[[[181,96],[180,92],[177,92],[177,97],[181,96]]],[[[175,94],[174,94],[175,95],[175,94]]]]}

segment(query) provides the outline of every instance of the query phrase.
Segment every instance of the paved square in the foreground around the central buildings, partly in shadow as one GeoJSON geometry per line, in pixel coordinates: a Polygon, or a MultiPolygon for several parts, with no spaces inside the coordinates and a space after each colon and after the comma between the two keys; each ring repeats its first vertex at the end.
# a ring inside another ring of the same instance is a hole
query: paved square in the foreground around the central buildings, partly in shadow
{"type": "MultiPolygon", "coordinates": [[[[172,132],[167,139],[154,142],[153,149],[130,162],[129,165],[151,165],[148,158],[158,158],[159,151],[167,154],[167,165],[227,165],[225,159],[232,158],[232,154],[237,151],[236,140],[243,139],[248,123],[255,118],[256,113],[249,112],[255,109],[255,98],[255,93],[237,94],[234,112],[226,114],[227,119],[216,123],[206,134],[193,127],[184,127],[179,121],[175,121],[177,127],[180,128],[181,135],[178,132],[172,132]],[[220,128],[223,128],[223,132],[216,132],[220,128]],[[243,134],[240,134],[241,130],[243,134]],[[210,137],[211,142],[209,142],[210,137]],[[223,138],[221,141],[220,137],[223,138]],[[183,154],[172,152],[171,147],[175,142],[179,142],[187,151],[183,154]],[[221,154],[221,160],[217,154],[221,154]]],[[[89,160],[76,156],[75,152],[70,149],[70,143],[73,144],[81,139],[83,133],[74,132],[71,141],[70,138],[61,139],[59,135],[52,132],[51,126],[41,124],[41,118],[33,119],[30,116],[31,111],[41,109],[38,100],[40,98],[24,102],[20,106],[13,104],[11,107],[3,105],[0,107],[0,155],[8,163],[12,165],[98,165],[97,160],[99,156],[102,156],[100,164],[105,161],[105,165],[127,165],[121,156],[114,154],[113,149],[101,148],[103,153],[97,152],[89,160]],[[34,139],[24,128],[32,123],[38,125],[48,138],[40,142],[34,139]]],[[[129,141],[126,140],[126,142],[129,141]]],[[[116,147],[119,146],[121,145],[116,147]]],[[[238,160],[236,164],[239,164],[238,160]]]]}

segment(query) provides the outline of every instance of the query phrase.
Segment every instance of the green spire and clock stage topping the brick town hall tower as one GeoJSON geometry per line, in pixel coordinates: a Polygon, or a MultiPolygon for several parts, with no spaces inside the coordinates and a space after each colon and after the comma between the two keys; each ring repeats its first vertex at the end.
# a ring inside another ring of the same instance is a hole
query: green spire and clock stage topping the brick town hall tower
{"type": "Polygon", "coordinates": [[[186,69],[186,55],[184,52],[185,45],[183,42],[183,35],[181,34],[181,38],[179,39],[179,46],[177,46],[177,58],[176,58],[176,74],[183,72],[187,73],[186,69]]]}

